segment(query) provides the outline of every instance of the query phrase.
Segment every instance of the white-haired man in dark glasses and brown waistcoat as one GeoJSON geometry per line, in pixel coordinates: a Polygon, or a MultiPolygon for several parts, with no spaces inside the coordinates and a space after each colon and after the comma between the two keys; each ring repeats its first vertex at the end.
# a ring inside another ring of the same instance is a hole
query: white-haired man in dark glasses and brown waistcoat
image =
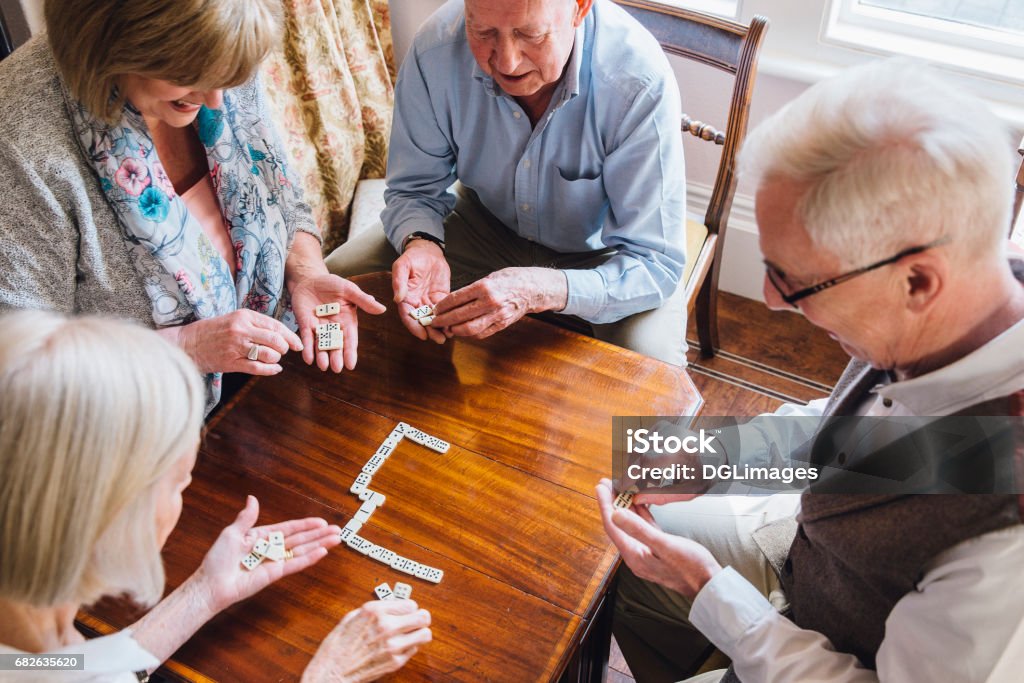
{"type": "MultiPolygon", "coordinates": [[[[776,413],[815,418],[774,442],[777,459],[827,450],[824,418],[1024,415],[1011,139],[899,60],[814,86],[751,135],[767,303],[852,357],[827,399],[776,413]]],[[[760,457],[743,445],[730,463],[760,457]]],[[[1009,446],[1024,453],[1019,436],[1009,446]]],[[[602,481],[629,567],[615,636],[638,682],[684,678],[709,641],[732,668],[702,682],[1008,680],[990,674],[1024,620],[1018,495],[612,498],[602,481]]]]}

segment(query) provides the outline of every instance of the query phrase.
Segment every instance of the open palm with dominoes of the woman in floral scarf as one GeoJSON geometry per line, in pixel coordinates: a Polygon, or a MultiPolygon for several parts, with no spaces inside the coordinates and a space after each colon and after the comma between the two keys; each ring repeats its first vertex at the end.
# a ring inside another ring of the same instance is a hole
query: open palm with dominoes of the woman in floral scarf
{"type": "Polygon", "coordinates": [[[358,286],[349,281],[322,273],[305,278],[291,290],[292,310],[302,336],[302,359],[307,366],[316,360],[321,370],[330,368],[340,373],[342,367],[355,369],[359,348],[359,322],[357,309],[379,315],[386,308],[358,286]],[[340,303],[341,310],[334,315],[316,317],[315,309],[322,303],[340,303]],[[342,347],[340,351],[321,351],[316,348],[316,326],[340,323],[342,347]]]}

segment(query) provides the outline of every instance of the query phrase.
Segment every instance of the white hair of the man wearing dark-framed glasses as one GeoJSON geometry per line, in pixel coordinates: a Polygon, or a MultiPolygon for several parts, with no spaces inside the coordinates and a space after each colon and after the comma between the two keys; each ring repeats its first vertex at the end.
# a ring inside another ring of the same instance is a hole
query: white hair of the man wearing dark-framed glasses
{"type": "Polygon", "coordinates": [[[748,137],[757,184],[806,185],[797,211],[811,242],[857,267],[940,238],[959,257],[1001,255],[1014,156],[977,97],[905,58],[809,88],[748,137]]]}

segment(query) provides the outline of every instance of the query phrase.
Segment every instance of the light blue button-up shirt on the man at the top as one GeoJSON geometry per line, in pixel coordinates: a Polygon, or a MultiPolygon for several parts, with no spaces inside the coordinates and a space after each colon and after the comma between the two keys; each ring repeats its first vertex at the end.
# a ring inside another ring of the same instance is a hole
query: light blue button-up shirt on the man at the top
{"type": "Polygon", "coordinates": [[[562,312],[611,323],[655,308],[685,260],[683,151],[676,79],[654,38],[596,0],[551,104],[534,126],[476,63],[462,0],[423,26],[395,90],[384,229],[443,239],[458,179],[506,227],[559,252],[610,248],[565,270],[562,312]]]}

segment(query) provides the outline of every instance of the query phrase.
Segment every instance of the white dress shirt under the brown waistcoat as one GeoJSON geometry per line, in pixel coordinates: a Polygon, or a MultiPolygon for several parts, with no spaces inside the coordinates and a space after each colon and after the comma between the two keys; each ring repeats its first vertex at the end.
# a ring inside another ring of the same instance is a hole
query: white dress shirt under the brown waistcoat
{"type": "MultiPolygon", "coordinates": [[[[1024,388],[1022,349],[1024,322],[945,368],[876,387],[859,413],[938,417],[1009,395],[1024,388]]],[[[823,408],[815,401],[782,413],[820,416],[823,408]]],[[[1024,634],[1015,637],[1024,620],[1022,589],[1024,525],[946,550],[889,613],[877,671],[780,615],[729,567],[697,594],[690,622],[732,659],[743,683],[1010,683],[1024,680],[1020,668],[1005,664],[1024,661],[1024,634]]]]}

